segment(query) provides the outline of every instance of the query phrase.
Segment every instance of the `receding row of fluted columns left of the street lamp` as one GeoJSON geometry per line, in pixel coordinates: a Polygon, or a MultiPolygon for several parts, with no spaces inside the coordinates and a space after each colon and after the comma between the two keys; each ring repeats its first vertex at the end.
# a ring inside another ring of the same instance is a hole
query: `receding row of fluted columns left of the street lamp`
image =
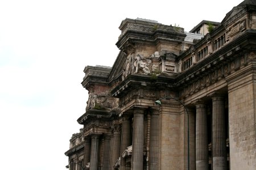
{"type": "MultiPolygon", "coordinates": [[[[100,160],[102,169],[113,169],[115,162],[121,158],[120,168],[125,170],[131,166],[133,169],[143,169],[144,162],[144,108],[134,108],[132,114],[122,115],[121,131],[119,125],[114,125],[113,135],[103,135],[104,140],[102,160],[100,160]],[[131,119],[133,118],[133,122],[131,119]],[[133,125],[133,127],[132,127],[133,125]],[[133,130],[133,132],[132,132],[133,130]],[[122,154],[127,147],[132,145],[131,164],[127,164],[122,154]]],[[[151,170],[158,169],[159,154],[159,109],[150,111],[150,152],[148,155],[149,166],[151,170]]],[[[89,169],[98,169],[100,157],[100,135],[91,135],[85,137],[84,146],[84,166],[89,165],[89,169]]]]}

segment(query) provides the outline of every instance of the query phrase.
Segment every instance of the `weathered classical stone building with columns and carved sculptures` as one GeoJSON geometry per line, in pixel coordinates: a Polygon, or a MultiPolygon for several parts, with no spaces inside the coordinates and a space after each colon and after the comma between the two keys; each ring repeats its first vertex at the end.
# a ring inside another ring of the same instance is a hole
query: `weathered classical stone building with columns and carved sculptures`
{"type": "Polygon", "coordinates": [[[122,21],[113,66],[84,69],[70,169],[256,169],[256,2],[200,27],[122,21]]]}

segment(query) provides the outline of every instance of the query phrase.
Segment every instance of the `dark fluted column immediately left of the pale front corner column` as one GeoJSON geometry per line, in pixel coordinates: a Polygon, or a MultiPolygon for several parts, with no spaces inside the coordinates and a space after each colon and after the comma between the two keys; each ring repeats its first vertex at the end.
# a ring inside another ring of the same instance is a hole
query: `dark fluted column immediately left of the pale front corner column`
{"type": "Polygon", "coordinates": [[[122,133],[121,133],[121,163],[120,170],[125,170],[125,159],[122,158],[122,153],[127,149],[128,146],[131,146],[131,121],[130,117],[126,114],[123,114],[122,117],[122,133]]]}

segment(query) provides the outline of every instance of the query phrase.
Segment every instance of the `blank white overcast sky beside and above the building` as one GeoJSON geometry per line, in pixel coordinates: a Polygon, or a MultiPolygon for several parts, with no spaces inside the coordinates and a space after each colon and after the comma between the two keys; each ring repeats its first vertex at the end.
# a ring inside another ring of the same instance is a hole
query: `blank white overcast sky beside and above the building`
{"type": "Polygon", "coordinates": [[[190,31],[240,2],[0,0],[0,169],[65,169],[88,98],[84,67],[113,65],[123,19],[190,31]]]}

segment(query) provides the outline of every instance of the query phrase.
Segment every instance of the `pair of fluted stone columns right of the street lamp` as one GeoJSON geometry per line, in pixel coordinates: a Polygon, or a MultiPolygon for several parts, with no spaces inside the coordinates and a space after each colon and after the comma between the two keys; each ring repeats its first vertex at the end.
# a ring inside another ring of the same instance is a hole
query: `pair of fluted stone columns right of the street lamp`
{"type": "MultiPolygon", "coordinates": [[[[212,97],[212,169],[227,169],[224,95],[212,97]]],[[[208,169],[207,105],[196,103],[196,169],[208,169]]]]}

